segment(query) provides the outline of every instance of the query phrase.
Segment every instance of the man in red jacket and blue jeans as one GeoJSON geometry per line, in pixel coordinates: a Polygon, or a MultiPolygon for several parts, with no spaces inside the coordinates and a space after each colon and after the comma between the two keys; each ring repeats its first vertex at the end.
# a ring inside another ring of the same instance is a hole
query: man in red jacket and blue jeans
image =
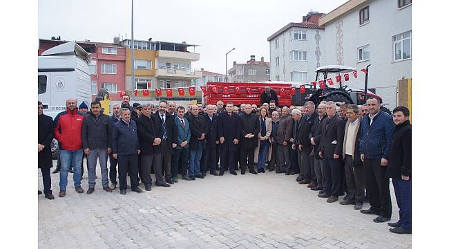
{"type": "Polygon", "coordinates": [[[77,100],[66,100],[66,111],[59,113],[55,129],[55,138],[59,142],[59,155],[61,158],[61,171],[59,172],[59,197],[66,196],[68,167],[73,167],[73,181],[75,190],[82,194],[81,164],[82,149],[82,123],[84,116],[77,111],[77,100]]]}

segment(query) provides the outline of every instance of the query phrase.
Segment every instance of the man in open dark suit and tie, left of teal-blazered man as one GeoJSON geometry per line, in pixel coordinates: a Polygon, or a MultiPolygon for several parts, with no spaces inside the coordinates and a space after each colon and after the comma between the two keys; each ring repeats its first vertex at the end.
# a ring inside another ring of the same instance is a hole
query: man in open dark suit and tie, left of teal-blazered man
{"type": "Polygon", "coordinates": [[[156,116],[162,124],[162,173],[165,173],[165,182],[173,184],[171,180],[171,156],[173,156],[173,149],[176,148],[176,141],[178,140],[178,127],[176,127],[175,118],[167,113],[166,110],[167,102],[166,100],[161,100],[156,116]]]}

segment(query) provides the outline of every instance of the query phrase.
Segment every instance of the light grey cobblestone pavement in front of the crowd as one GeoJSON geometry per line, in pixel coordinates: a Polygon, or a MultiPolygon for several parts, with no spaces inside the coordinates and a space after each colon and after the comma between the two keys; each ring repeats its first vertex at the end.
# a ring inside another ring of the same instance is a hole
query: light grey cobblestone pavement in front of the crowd
{"type": "MultiPolygon", "coordinates": [[[[126,195],[102,190],[99,168],[90,195],[86,172],[84,194],[68,176],[66,197],[52,174],[55,200],[38,198],[39,248],[411,248],[410,234],[392,234],[353,205],[326,203],[296,176],[208,175],[126,195]]],[[[39,190],[41,180],[39,171],[39,190]]]]}

